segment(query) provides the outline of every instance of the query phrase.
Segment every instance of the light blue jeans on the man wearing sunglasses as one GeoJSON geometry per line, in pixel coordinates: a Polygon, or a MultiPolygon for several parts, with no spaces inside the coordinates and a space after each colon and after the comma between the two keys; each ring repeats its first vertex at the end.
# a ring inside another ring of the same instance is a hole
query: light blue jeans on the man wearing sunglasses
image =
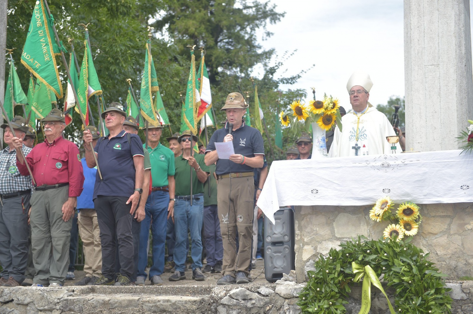
{"type": "Polygon", "coordinates": [[[174,225],[176,244],[174,247],[175,270],[184,271],[187,250],[187,228],[191,232],[192,270],[202,267],[202,219],[204,211],[203,194],[194,195],[192,201],[177,199],[174,204],[174,225]]]}

